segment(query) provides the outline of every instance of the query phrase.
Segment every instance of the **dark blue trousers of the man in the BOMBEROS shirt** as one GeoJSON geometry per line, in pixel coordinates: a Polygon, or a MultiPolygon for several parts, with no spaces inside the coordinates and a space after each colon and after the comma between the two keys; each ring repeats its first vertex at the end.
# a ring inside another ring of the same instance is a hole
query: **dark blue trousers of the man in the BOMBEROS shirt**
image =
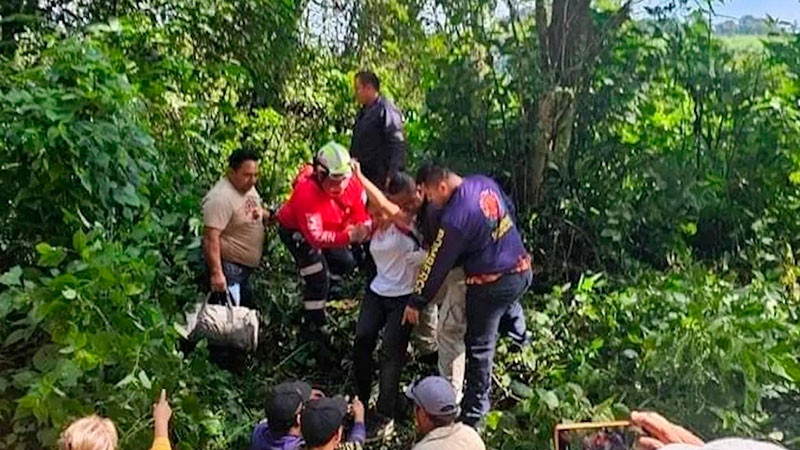
{"type": "Polygon", "coordinates": [[[466,390],[461,401],[461,420],[467,425],[477,426],[489,411],[492,365],[500,332],[515,340],[516,336],[525,336],[525,316],[519,300],[531,279],[531,272],[526,271],[467,287],[466,390]]]}

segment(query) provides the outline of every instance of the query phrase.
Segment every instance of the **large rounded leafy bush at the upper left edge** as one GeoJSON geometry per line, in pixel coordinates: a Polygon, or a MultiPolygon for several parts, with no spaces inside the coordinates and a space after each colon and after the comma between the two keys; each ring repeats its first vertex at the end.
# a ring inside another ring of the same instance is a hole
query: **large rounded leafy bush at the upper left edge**
{"type": "Polygon", "coordinates": [[[146,179],[158,176],[159,155],[121,63],[73,37],[0,82],[0,223],[10,253],[43,239],[64,244],[65,225],[129,226],[149,208],[146,179]]]}

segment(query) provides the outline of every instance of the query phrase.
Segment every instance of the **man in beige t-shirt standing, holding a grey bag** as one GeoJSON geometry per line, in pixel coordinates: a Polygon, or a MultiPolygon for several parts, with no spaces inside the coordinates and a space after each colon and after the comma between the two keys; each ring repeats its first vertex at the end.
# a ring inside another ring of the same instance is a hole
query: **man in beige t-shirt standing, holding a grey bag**
{"type": "MultiPolygon", "coordinates": [[[[258,155],[236,150],[228,173],[203,199],[203,250],[212,292],[239,286],[239,304],[253,307],[250,274],[261,260],[269,212],[256,191],[258,155]]],[[[235,292],[235,290],[234,290],[235,292]]]]}

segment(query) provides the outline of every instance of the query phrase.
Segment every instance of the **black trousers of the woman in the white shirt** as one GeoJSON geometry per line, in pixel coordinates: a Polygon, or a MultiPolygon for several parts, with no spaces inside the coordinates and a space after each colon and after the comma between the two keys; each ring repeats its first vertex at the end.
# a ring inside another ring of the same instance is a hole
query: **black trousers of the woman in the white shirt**
{"type": "Polygon", "coordinates": [[[383,329],[381,345],[380,381],[376,409],[379,414],[394,418],[397,395],[400,389],[400,372],[406,361],[411,325],[401,325],[403,311],[409,296],[382,297],[367,288],[356,325],[353,369],[358,398],[369,402],[372,391],[372,353],[383,329]]]}

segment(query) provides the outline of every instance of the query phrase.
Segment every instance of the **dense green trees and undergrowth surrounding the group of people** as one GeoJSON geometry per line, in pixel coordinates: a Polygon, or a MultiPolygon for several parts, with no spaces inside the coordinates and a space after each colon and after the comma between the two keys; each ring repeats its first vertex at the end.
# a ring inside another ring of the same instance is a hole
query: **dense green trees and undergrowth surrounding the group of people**
{"type": "MultiPolygon", "coordinates": [[[[362,67],[405,111],[412,164],[489,173],[521,211],[535,341],[500,347],[491,446],[652,408],[800,448],[800,35],[734,52],[662,3],[4,1],[0,448],[91,411],[145,448],[162,387],[180,448],[244,448],[275,380],[346,388],[348,358],[316,373],[298,341],[274,236],[246,374],[184,353],[175,324],[225,157],[261,152],[279,204],[313,149],[348,142],[362,67]]],[[[356,312],[332,306],[346,355],[356,312]]]]}

